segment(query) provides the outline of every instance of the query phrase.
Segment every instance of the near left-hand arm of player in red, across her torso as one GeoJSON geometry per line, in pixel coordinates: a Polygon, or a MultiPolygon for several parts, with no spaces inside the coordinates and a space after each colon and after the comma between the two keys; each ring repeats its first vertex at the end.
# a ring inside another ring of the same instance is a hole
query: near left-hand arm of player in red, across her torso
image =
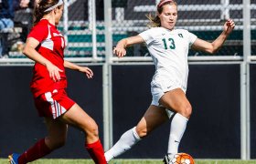
{"type": "Polygon", "coordinates": [[[63,72],[63,70],[53,65],[44,56],[41,56],[36,50],[38,45],[39,45],[39,41],[37,41],[37,39],[33,37],[28,37],[26,45],[23,49],[23,54],[28,58],[36,61],[37,63],[40,63],[46,66],[49,72],[49,77],[53,79],[53,81],[58,81],[60,79],[59,72],[63,72]]]}

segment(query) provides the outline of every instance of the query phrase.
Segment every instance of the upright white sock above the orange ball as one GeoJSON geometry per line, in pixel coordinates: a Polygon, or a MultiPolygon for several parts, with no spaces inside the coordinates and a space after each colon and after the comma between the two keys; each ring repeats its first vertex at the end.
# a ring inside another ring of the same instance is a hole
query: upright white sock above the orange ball
{"type": "Polygon", "coordinates": [[[174,156],[178,152],[179,142],[186,130],[188,119],[176,113],[171,122],[168,151],[167,153],[174,156]]]}

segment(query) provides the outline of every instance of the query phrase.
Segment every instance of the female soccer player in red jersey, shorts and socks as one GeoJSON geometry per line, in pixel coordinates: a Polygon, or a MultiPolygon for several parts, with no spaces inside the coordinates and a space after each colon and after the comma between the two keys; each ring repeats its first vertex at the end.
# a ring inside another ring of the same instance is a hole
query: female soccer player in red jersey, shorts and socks
{"type": "Polygon", "coordinates": [[[63,146],[68,125],[80,128],[85,133],[85,148],[94,162],[106,163],[97,124],[66,93],[65,67],[85,73],[88,78],[93,73],[88,67],[64,60],[65,40],[56,27],[62,12],[63,0],[39,1],[34,11],[34,26],[23,50],[28,58],[36,62],[30,87],[38,114],[45,118],[48,136],[23,154],[10,155],[10,163],[24,164],[40,159],[63,146]]]}

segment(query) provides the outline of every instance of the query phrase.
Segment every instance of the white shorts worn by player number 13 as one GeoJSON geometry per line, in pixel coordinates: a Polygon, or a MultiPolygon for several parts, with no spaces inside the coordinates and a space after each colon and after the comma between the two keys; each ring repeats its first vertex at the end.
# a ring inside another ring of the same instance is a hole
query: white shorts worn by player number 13
{"type": "Polygon", "coordinates": [[[177,84],[176,82],[165,78],[165,80],[155,80],[151,82],[151,94],[152,94],[152,102],[151,105],[159,106],[159,99],[163,97],[165,92],[174,90],[176,88],[181,88],[184,93],[186,93],[187,87],[184,87],[181,84],[177,84]]]}

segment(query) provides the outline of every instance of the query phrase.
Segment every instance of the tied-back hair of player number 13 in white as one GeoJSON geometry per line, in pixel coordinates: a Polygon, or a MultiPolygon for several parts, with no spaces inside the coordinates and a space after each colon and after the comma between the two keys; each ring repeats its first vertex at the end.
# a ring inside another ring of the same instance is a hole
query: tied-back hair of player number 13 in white
{"type": "Polygon", "coordinates": [[[175,0],[171,0],[171,1],[166,1],[165,3],[163,3],[163,1],[166,0],[161,0],[159,2],[159,4],[157,5],[157,13],[155,15],[153,14],[148,14],[146,15],[146,17],[149,19],[149,23],[147,24],[147,26],[149,27],[156,27],[156,26],[161,26],[161,21],[158,15],[161,15],[161,13],[163,12],[163,7],[165,5],[177,5],[175,0]],[[162,4],[161,4],[162,3],[162,4]],[[161,5],[160,5],[161,4],[161,5]],[[158,15],[157,15],[158,14],[158,15]]]}

